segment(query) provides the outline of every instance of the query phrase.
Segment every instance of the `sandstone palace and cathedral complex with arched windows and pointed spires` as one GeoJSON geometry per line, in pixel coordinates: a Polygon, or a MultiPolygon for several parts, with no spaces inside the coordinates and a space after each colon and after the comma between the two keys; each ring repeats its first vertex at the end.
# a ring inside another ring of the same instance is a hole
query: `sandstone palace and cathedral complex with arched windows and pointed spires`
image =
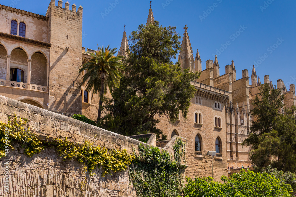
{"type": "MultiPolygon", "coordinates": [[[[82,78],[78,69],[90,59],[85,52],[94,52],[82,47],[83,8],[73,4],[70,9],[61,0],[57,5],[51,0],[45,16],[0,5],[0,95],[64,115],[79,113],[96,119],[98,97],[91,99],[91,92],[78,88],[82,78]]],[[[153,22],[150,8],[147,25],[153,22]]],[[[168,139],[178,135],[188,140],[186,176],[191,178],[212,175],[212,158],[207,152],[216,151],[214,178],[220,180],[228,165],[251,164],[250,147],[241,145],[249,134],[250,100],[263,83],[271,87],[273,83],[268,75],[261,83],[254,67],[250,74],[243,70],[242,79],[237,79],[234,61],[220,75],[217,57],[202,67],[198,50],[194,57],[187,30],[185,25],[178,60],[183,69],[201,72],[200,79],[192,82],[196,94],[186,120],[180,116],[171,123],[159,117],[158,128],[168,139]]],[[[118,54],[126,56],[127,48],[124,31],[118,54]]],[[[284,103],[296,105],[295,85],[287,90],[281,79],[276,85],[285,95],[284,103]]],[[[157,141],[161,147],[166,143],[157,141]]]]}

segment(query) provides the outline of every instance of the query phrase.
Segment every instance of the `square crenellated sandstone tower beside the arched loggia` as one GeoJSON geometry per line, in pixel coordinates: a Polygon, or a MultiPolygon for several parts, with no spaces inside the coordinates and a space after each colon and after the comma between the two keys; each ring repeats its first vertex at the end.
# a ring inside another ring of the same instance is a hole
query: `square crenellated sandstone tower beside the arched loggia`
{"type": "Polygon", "coordinates": [[[51,0],[46,16],[49,17],[48,39],[51,43],[49,65],[49,110],[81,113],[81,76],[78,69],[82,56],[82,7],[62,0],[51,0]]]}

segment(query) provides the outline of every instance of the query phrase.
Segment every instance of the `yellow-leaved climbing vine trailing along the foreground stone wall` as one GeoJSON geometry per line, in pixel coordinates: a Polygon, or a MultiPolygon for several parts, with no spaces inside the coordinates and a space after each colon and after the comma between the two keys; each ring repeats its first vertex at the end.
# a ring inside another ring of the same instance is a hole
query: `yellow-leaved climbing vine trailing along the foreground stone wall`
{"type": "Polygon", "coordinates": [[[126,150],[108,150],[94,143],[85,141],[83,144],[75,143],[65,139],[39,140],[38,135],[28,127],[28,120],[13,120],[9,118],[8,124],[0,122],[0,157],[6,156],[8,149],[14,150],[13,143],[21,144],[24,153],[28,157],[40,153],[45,148],[54,148],[63,159],[77,159],[81,164],[87,166],[90,175],[96,167],[102,167],[103,174],[110,174],[111,171],[125,171],[131,164],[134,155],[128,154],[126,150]],[[9,133],[5,132],[8,131],[9,133]]]}

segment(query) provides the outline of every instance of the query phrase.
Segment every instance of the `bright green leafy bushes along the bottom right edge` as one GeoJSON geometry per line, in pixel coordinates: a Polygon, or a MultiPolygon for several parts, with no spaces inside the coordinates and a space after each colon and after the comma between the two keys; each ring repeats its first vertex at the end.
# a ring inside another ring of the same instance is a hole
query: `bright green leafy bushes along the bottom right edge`
{"type": "Polygon", "coordinates": [[[291,185],[276,179],[266,172],[256,173],[242,170],[231,175],[230,179],[222,176],[224,182],[217,183],[212,178],[186,178],[185,197],[291,197],[291,185]]]}

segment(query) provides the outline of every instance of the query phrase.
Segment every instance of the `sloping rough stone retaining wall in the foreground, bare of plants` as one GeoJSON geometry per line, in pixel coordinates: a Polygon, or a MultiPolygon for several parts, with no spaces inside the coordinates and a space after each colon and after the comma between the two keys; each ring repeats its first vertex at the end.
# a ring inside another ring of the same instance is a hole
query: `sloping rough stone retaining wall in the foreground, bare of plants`
{"type": "MultiPolygon", "coordinates": [[[[8,116],[14,113],[19,118],[28,118],[30,128],[34,129],[41,139],[67,137],[75,142],[88,140],[94,142],[96,146],[107,149],[127,149],[129,153],[132,153],[132,147],[137,151],[139,144],[145,145],[136,139],[0,96],[0,120],[7,123],[8,116]]],[[[160,149],[172,154],[176,139],[176,136],[173,137],[164,148],[160,149]]],[[[155,134],[150,135],[148,143],[155,143],[155,134]]],[[[3,193],[4,162],[2,160],[0,197],[136,196],[133,186],[129,185],[127,171],[102,177],[102,170],[97,169],[94,176],[89,176],[77,161],[63,161],[54,149],[44,149],[40,154],[28,158],[23,154],[24,150],[20,146],[21,144],[15,144],[15,151],[9,152],[10,196],[3,193]]]]}

